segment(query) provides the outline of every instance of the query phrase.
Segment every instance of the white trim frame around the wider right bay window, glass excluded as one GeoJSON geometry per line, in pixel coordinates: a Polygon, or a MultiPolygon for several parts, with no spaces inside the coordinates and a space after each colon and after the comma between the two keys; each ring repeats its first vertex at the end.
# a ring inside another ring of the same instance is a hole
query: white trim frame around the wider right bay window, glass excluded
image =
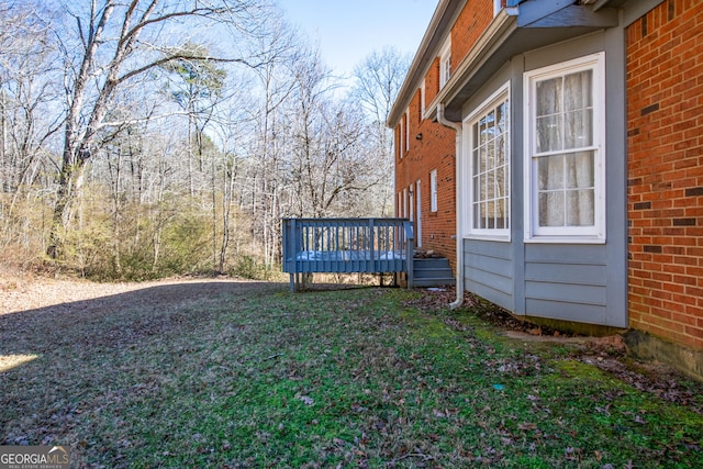
{"type": "Polygon", "coordinates": [[[523,77],[524,87],[524,241],[525,243],[605,243],[605,53],[591,54],[577,59],[526,71],[523,77]],[[594,225],[539,228],[536,226],[537,175],[533,170],[533,154],[536,153],[533,138],[535,119],[533,118],[535,101],[535,83],[539,79],[563,76],[568,72],[593,70],[593,147],[595,149],[594,169],[594,225]]]}

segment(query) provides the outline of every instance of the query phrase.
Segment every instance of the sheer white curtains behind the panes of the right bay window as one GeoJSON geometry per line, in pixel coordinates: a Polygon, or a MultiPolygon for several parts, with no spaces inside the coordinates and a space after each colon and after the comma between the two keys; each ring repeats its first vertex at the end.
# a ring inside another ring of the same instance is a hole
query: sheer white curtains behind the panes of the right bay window
{"type": "Polygon", "coordinates": [[[593,71],[538,81],[536,113],[539,226],[593,226],[593,71]]]}

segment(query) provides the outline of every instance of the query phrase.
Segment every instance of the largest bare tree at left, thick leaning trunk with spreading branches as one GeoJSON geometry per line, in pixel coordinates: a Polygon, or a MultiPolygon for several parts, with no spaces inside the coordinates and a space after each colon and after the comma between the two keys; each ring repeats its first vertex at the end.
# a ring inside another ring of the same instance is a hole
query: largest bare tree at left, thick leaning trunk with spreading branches
{"type": "MultiPolygon", "coordinates": [[[[193,26],[243,31],[257,20],[258,0],[91,0],[88,11],[66,11],[75,21],[72,47],[62,41],[67,63],[67,112],[64,149],[47,253],[62,255],[64,233],[72,217],[71,203],[82,183],[83,168],[101,147],[101,132],[123,122],[105,120],[118,90],[143,78],[156,67],[175,60],[211,60],[256,65],[246,57],[207,57],[198,52],[170,48],[169,27],[190,22],[193,26]],[[194,23],[194,24],[193,24],[194,23]],[[77,51],[77,54],[69,53],[77,51]]],[[[223,30],[224,31],[224,30],[223,30]]]]}

